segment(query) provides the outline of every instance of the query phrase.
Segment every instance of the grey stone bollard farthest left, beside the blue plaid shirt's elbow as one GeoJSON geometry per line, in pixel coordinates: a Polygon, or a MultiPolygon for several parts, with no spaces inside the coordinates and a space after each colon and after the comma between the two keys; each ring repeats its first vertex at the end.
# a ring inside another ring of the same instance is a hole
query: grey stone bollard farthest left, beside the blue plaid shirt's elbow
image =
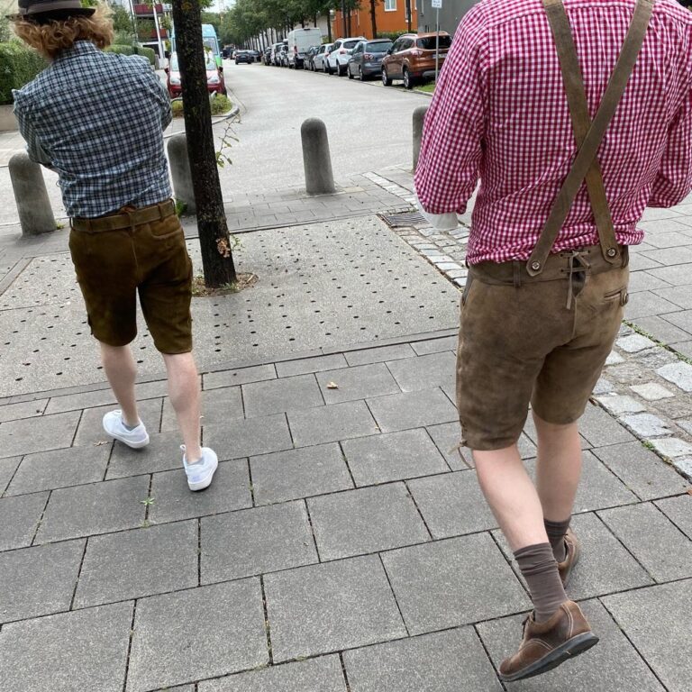
{"type": "Polygon", "coordinates": [[[8,164],[23,235],[55,231],[55,217],[43,181],[41,166],[27,154],[14,154],[8,164]]]}

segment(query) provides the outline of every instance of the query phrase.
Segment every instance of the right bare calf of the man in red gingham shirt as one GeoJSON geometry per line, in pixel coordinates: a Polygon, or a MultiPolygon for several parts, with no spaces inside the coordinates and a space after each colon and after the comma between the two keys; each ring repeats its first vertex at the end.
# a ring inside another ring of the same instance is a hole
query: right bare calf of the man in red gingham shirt
{"type": "Polygon", "coordinates": [[[581,445],[577,423],[555,425],[533,414],[538,432],[536,489],[543,515],[562,522],[572,514],[581,475],[581,445]]]}

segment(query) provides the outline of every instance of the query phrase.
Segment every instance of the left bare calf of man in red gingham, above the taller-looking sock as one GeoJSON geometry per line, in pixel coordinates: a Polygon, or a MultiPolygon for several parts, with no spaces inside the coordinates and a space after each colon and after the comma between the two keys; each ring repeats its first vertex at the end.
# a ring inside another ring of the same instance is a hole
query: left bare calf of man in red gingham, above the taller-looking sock
{"type": "Polygon", "coordinates": [[[474,451],[478,482],[512,551],[547,543],[543,510],[516,445],[474,451]]]}

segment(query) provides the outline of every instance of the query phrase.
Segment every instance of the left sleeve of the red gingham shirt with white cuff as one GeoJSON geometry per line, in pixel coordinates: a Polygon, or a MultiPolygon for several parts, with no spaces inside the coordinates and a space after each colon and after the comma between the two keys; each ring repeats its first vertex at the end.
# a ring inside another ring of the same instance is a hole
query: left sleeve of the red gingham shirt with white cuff
{"type": "Polygon", "coordinates": [[[456,225],[478,182],[485,131],[483,39],[483,9],[476,5],[460,23],[423,125],[415,191],[422,211],[441,230],[456,225]]]}

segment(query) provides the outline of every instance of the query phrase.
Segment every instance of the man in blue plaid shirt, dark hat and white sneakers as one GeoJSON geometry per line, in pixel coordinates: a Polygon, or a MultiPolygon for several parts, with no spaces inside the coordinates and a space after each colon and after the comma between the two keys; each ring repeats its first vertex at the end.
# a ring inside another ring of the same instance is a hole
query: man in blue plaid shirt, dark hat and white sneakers
{"type": "Polygon", "coordinates": [[[163,130],[165,87],[140,56],[105,53],[113,25],[105,5],[20,0],[14,31],[50,66],[14,91],[29,156],[57,171],[71,217],[69,250],[92,333],[120,409],[105,432],[139,449],[149,434],[134,396],[129,346],[136,298],[168,372],[191,490],[212,482],[213,450],[200,446],[200,392],[192,356],[192,263],[170,198],[163,130]]]}

